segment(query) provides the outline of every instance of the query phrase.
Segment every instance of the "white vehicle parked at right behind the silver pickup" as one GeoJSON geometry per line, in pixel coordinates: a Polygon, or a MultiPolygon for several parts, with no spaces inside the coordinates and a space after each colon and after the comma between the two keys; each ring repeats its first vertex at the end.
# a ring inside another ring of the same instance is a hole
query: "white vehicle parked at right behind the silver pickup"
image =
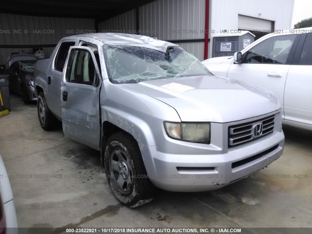
{"type": "Polygon", "coordinates": [[[266,35],[234,57],[207,59],[215,75],[270,90],[282,104],[283,123],[312,130],[312,28],[266,35]]]}

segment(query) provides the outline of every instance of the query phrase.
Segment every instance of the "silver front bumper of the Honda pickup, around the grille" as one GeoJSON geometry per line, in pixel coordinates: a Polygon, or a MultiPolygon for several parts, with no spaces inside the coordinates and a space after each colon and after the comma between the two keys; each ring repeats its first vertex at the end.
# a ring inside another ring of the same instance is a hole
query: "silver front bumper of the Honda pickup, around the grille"
{"type": "Polygon", "coordinates": [[[228,146],[229,126],[261,117],[212,123],[211,144],[183,142],[165,136],[160,146],[141,147],[150,180],[167,191],[200,192],[221,188],[263,169],[284,150],[280,113],[262,117],[273,114],[275,124],[271,134],[234,147],[228,146]]]}

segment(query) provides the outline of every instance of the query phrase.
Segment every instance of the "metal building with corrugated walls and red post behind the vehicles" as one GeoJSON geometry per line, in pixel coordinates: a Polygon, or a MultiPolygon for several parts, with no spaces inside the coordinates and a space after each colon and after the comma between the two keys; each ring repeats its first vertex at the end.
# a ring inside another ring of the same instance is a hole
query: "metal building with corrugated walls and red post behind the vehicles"
{"type": "MultiPolygon", "coordinates": [[[[121,1],[105,2],[116,5],[121,1]]],[[[36,12],[23,15],[21,10],[8,11],[4,6],[0,10],[0,64],[6,64],[11,52],[32,52],[33,48],[43,48],[45,57],[49,57],[62,37],[88,32],[157,36],[183,46],[203,60],[212,57],[211,42],[215,35],[249,30],[258,39],[274,30],[290,29],[294,0],[140,0],[136,3],[128,3],[127,8],[120,6],[121,14],[116,8],[109,14],[103,12],[104,17],[100,17],[101,6],[92,5],[92,1],[88,7],[94,7],[94,12],[80,11],[73,15],[63,10],[62,14],[49,14],[49,17],[44,12],[39,16],[36,12]]]]}

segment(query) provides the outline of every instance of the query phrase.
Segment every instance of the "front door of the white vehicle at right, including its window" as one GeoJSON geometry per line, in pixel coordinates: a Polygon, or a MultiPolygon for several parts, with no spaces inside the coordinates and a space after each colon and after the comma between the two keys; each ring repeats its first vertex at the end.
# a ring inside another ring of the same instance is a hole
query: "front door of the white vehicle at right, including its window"
{"type": "Polygon", "coordinates": [[[283,108],[295,41],[296,35],[275,36],[261,41],[243,54],[243,63],[230,66],[227,77],[271,91],[283,108]]]}

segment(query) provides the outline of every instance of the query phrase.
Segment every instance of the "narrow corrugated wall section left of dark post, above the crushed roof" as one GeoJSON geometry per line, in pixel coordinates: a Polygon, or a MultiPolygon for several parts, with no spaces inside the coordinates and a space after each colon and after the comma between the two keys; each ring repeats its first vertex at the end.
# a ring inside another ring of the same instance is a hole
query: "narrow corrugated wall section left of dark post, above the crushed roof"
{"type": "Polygon", "coordinates": [[[136,33],[136,10],[131,10],[119,16],[98,24],[100,33],[136,33]]]}

